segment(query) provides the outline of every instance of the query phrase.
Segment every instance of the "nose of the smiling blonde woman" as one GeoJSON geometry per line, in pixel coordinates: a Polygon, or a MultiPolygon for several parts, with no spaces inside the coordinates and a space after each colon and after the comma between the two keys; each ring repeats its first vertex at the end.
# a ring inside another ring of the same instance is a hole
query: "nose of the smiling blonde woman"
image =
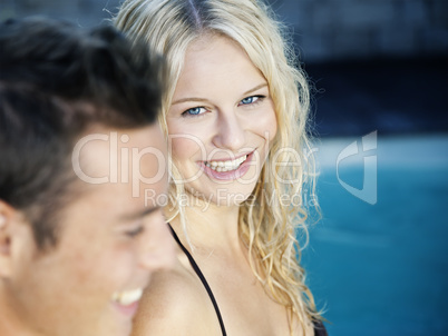
{"type": "Polygon", "coordinates": [[[246,144],[246,125],[233,111],[220,113],[213,144],[218,148],[237,151],[246,144]]]}

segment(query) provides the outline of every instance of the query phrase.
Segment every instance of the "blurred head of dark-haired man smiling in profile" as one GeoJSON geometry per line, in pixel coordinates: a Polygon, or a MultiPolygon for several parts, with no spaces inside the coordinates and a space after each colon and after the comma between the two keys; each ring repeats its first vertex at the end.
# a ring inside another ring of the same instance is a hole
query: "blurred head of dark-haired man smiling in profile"
{"type": "Polygon", "coordinates": [[[160,60],[45,19],[1,23],[0,50],[0,334],[128,335],[173,257],[160,60]]]}

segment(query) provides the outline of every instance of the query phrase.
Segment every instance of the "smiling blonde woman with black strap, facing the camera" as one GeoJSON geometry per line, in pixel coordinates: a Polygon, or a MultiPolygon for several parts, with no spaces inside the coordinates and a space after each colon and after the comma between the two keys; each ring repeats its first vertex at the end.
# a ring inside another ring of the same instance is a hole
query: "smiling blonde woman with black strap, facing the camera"
{"type": "Polygon", "coordinates": [[[269,8],[128,0],[115,24],[163,53],[169,76],[178,264],[152,281],[134,335],[325,335],[295,239],[312,180],[309,89],[269,8]]]}

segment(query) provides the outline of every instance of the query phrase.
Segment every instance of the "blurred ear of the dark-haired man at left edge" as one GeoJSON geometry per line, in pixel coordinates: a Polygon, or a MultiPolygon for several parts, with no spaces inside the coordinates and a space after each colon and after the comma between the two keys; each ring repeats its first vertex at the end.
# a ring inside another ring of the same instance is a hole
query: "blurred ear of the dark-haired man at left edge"
{"type": "Polygon", "coordinates": [[[21,211],[0,199],[0,278],[11,276],[16,259],[13,246],[25,238],[27,229],[21,211]]]}

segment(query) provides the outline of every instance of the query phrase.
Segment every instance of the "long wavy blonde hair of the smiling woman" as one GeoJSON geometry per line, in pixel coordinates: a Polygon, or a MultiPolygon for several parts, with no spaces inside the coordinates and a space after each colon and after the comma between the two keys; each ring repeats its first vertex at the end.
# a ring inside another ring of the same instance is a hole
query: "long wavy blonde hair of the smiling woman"
{"type": "MultiPolygon", "coordinates": [[[[238,229],[249,247],[251,267],[266,293],[288,308],[290,318],[295,315],[302,327],[309,319],[319,319],[304,284],[296,240],[299,229],[308,239],[304,192],[314,186],[306,129],[310,95],[280,22],[256,0],[127,0],[114,23],[166,58],[169,82],[160,117],[166,134],[165,116],[185,52],[198,37],[217,33],[236,41],[263,73],[274,101],[277,134],[251,197],[241,205],[238,229]]],[[[175,167],[173,175],[178,176],[175,167]]],[[[177,200],[184,186],[173,182],[171,192],[177,200]]],[[[172,206],[182,219],[182,202],[172,206]]],[[[185,218],[182,223],[185,225],[185,218]]]]}

